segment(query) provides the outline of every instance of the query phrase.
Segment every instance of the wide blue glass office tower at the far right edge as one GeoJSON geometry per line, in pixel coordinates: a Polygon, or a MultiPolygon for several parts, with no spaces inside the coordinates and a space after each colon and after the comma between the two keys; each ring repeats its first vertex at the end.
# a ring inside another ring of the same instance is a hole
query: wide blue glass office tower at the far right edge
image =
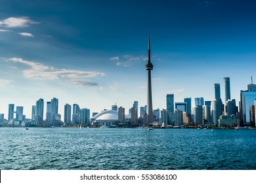
{"type": "Polygon", "coordinates": [[[240,114],[241,120],[246,125],[251,125],[250,118],[249,118],[249,105],[254,105],[256,99],[256,91],[240,91],[240,114]]]}

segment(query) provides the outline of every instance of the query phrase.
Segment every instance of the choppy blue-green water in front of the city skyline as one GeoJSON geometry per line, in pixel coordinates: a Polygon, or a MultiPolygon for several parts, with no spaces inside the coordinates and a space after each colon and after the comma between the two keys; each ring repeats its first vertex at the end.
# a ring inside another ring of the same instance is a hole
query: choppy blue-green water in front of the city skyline
{"type": "Polygon", "coordinates": [[[256,130],[0,128],[0,169],[256,169],[256,130]]]}

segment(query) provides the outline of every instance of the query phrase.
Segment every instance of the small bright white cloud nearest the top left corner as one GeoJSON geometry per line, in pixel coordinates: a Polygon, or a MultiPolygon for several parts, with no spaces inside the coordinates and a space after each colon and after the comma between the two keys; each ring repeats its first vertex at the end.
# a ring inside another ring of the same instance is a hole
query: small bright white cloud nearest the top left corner
{"type": "Polygon", "coordinates": [[[5,27],[28,27],[30,24],[38,24],[38,22],[34,22],[33,20],[30,20],[28,17],[20,17],[20,18],[10,17],[0,21],[0,26],[5,26],[5,27]]]}

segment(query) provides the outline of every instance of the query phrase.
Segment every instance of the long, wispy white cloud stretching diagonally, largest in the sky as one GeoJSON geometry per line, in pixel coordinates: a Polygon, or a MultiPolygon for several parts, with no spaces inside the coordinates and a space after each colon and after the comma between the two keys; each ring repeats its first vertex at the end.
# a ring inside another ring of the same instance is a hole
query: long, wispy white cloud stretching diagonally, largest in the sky
{"type": "Polygon", "coordinates": [[[97,83],[91,82],[89,78],[104,76],[104,73],[98,71],[77,71],[72,69],[54,69],[41,63],[26,61],[21,58],[10,58],[9,61],[23,63],[32,67],[32,69],[22,71],[25,78],[30,79],[64,79],[76,86],[98,86],[97,83]]]}

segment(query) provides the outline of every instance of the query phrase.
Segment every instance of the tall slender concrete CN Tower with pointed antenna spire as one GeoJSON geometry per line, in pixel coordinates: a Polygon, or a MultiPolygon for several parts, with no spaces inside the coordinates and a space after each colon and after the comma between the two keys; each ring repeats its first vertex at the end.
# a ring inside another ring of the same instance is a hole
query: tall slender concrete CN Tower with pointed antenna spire
{"type": "Polygon", "coordinates": [[[146,63],[146,70],[148,71],[148,95],[147,95],[147,107],[146,107],[146,125],[153,123],[153,108],[152,108],[152,90],[151,90],[151,70],[153,70],[153,64],[150,60],[150,34],[148,33],[148,63],[146,63]]]}

